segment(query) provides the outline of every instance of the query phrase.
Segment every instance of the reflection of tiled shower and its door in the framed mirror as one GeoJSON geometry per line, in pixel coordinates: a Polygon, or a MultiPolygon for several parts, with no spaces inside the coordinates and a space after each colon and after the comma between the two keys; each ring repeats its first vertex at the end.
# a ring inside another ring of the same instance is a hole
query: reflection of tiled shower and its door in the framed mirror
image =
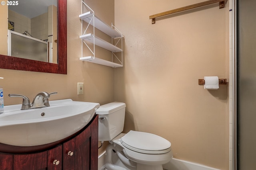
{"type": "Polygon", "coordinates": [[[57,0],[8,6],[8,55],[49,63],[57,59],[57,0]]]}

